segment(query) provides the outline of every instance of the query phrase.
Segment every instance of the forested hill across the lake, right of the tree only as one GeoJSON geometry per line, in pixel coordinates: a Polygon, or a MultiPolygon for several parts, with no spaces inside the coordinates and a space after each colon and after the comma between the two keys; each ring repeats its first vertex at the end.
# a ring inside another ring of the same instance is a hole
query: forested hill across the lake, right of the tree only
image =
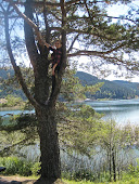
{"type": "Polygon", "coordinates": [[[88,98],[134,98],[139,96],[139,83],[137,82],[100,80],[97,77],[83,71],[77,71],[76,77],[80,79],[80,82],[84,86],[92,86],[98,82],[104,82],[101,90],[94,95],[88,94],[88,98]]]}

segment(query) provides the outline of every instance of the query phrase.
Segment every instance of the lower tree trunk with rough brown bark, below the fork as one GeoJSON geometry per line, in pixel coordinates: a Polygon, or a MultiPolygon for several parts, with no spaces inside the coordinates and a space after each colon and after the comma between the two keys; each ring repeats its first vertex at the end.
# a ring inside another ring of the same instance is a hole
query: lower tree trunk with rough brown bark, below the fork
{"type": "Polygon", "coordinates": [[[54,111],[54,107],[36,109],[41,152],[41,176],[36,183],[52,184],[61,178],[60,147],[54,111]]]}

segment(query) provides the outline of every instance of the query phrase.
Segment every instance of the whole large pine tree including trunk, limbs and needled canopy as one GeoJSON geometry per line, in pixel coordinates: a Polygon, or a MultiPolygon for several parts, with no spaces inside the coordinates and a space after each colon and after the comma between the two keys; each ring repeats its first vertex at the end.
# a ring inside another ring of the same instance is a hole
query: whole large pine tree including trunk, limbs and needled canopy
{"type": "MultiPolygon", "coordinates": [[[[3,60],[11,61],[15,76],[38,120],[41,176],[37,183],[52,184],[61,178],[60,148],[55,104],[65,68],[73,57],[89,56],[93,68],[105,64],[124,66],[138,73],[138,8],[123,16],[108,15],[112,3],[131,0],[3,0],[0,23],[4,32],[0,41],[3,60]],[[24,12],[24,13],[23,13],[24,12]],[[113,23],[118,19],[117,23],[113,23]],[[50,82],[50,54],[45,43],[62,40],[62,61],[54,91],[50,82]],[[4,53],[8,51],[9,56],[4,53]],[[20,64],[27,56],[33,68],[34,93],[27,84],[28,75],[20,64]],[[47,101],[47,103],[45,103],[47,101]]],[[[2,30],[2,29],[1,29],[2,30]]]]}

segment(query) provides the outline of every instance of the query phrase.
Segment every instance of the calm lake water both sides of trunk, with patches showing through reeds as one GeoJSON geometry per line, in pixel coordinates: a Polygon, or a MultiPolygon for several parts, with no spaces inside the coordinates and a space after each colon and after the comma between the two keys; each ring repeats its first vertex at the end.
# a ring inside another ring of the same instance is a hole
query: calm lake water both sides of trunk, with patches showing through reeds
{"type": "MultiPolygon", "coordinates": [[[[118,123],[122,123],[122,124],[127,123],[129,121],[132,124],[139,123],[139,98],[138,100],[121,100],[121,101],[119,100],[118,101],[101,101],[101,102],[86,101],[85,103],[92,106],[96,109],[96,111],[105,114],[104,119],[114,118],[118,123]]],[[[28,110],[22,111],[22,110],[17,110],[14,108],[0,108],[0,116],[9,116],[9,114],[17,115],[20,113],[29,113],[29,111],[28,110]]],[[[34,113],[34,110],[31,110],[30,113],[34,113]]],[[[36,144],[31,148],[30,147],[23,148],[22,153],[27,155],[28,159],[33,159],[33,160],[37,159],[39,158],[39,155],[40,155],[39,145],[36,144]]],[[[62,158],[64,159],[63,156],[62,158]]],[[[136,149],[132,148],[131,155],[129,152],[128,157],[126,153],[126,158],[127,160],[128,158],[130,158],[131,160],[136,160],[136,158],[139,158],[139,150],[137,148],[136,149]]],[[[96,161],[97,160],[99,161],[100,158],[99,159],[96,158],[96,161]]],[[[70,161],[67,157],[65,157],[65,160],[63,160],[63,162],[65,162],[66,165],[70,165],[71,157],[70,157],[70,161]]],[[[85,162],[87,163],[87,160],[85,160],[85,162]]],[[[92,162],[94,162],[94,160],[92,162]]],[[[89,160],[89,166],[90,166],[90,160],[89,160]]]]}

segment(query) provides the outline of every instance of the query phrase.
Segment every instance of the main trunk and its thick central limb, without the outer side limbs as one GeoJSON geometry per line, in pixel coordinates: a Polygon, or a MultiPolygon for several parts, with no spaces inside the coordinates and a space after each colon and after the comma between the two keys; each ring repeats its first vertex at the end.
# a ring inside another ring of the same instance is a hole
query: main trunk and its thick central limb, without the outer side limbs
{"type": "MultiPolygon", "coordinates": [[[[30,1],[26,1],[25,14],[30,19],[33,18],[30,1]]],[[[54,93],[49,100],[49,87],[50,81],[48,77],[49,62],[47,60],[47,52],[43,51],[37,54],[34,42],[33,28],[25,22],[25,38],[28,54],[34,63],[35,71],[35,98],[40,104],[36,108],[36,116],[38,119],[38,133],[40,137],[40,161],[41,161],[41,176],[36,183],[52,184],[61,178],[61,166],[60,166],[60,148],[56,131],[56,122],[54,120],[55,101],[59,94],[54,93]],[[31,39],[31,45],[30,45],[31,39]],[[48,105],[45,105],[46,101],[50,101],[48,105]],[[51,105],[50,105],[51,104],[51,105]]],[[[41,47],[41,45],[40,45],[41,47]]],[[[60,82],[61,83],[61,82],[60,82]]]]}

